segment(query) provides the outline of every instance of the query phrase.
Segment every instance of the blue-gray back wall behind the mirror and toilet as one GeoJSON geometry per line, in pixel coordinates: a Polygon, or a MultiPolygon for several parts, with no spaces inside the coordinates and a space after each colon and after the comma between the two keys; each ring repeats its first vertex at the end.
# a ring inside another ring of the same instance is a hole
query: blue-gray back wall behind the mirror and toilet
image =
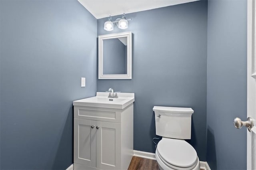
{"type": "MultiPolygon", "coordinates": [[[[112,17],[115,20],[117,17],[112,17]]],[[[129,28],[103,30],[98,36],[133,33],[132,79],[98,80],[97,91],[135,93],[134,149],[155,152],[152,108],[192,107],[192,138],[200,160],[206,160],[207,1],[168,6],[127,14],[129,28]]]]}

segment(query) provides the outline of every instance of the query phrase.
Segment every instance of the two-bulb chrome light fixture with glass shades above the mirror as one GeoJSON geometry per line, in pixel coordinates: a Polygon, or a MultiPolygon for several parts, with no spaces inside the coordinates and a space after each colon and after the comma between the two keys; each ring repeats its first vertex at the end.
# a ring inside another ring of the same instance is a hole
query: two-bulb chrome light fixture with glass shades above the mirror
{"type": "Polygon", "coordinates": [[[108,21],[105,22],[104,24],[104,30],[106,31],[112,31],[114,30],[114,25],[113,23],[120,29],[124,30],[128,28],[128,21],[132,19],[126,20],[125,14],[122,15],[122,18],[117,18],[116,21],[112,22],[112,17],[108,17],[108,21]]]}

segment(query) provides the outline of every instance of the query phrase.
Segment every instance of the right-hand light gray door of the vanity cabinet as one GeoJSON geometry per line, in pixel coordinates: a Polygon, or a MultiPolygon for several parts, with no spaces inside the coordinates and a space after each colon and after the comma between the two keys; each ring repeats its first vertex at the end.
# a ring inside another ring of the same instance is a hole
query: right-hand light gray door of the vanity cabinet
{"type": "Polygon", "coordinates": [[[121,124],[97,121],[97,168],[121,169],[121,124]]]}

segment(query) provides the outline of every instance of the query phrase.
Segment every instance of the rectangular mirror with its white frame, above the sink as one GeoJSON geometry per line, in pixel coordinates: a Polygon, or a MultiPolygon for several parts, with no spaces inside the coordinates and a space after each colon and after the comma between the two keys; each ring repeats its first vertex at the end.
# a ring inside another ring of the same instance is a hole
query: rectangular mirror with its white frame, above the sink
{"type": "Polygon", "coordinates": [[[132,79],[132,32],[98,37],[98,79],[132,79]]]}

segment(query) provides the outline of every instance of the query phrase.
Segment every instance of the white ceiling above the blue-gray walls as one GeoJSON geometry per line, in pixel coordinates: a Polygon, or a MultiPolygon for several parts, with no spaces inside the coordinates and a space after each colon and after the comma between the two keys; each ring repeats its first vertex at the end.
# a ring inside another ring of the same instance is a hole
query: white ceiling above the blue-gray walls
{"type": "Polygon", "coordinates": [[[198,0],[78,0],[95,18],[128,14],[198,0]]]}

